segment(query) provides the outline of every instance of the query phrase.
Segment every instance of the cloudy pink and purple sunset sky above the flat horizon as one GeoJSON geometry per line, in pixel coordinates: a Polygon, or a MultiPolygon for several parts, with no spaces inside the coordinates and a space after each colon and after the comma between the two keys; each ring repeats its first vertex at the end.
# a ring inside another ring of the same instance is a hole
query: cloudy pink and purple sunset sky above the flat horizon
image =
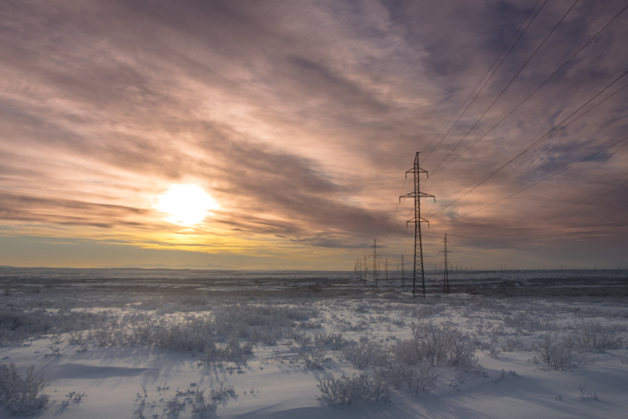
{"type": "Polygon", "coordinates": [[[627,268],[626,6],[4,0],[0,265],[627,268]]]}

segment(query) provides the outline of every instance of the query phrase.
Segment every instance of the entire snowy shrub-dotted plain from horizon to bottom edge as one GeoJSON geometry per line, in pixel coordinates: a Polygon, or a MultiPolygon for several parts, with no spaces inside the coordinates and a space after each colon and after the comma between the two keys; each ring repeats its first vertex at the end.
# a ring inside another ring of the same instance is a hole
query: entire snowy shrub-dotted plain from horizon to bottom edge
{"type": "Polygon", "coordinates": [[[565,272],[0,268],[0,417],[624,417],[627,273],[565,272]]]}

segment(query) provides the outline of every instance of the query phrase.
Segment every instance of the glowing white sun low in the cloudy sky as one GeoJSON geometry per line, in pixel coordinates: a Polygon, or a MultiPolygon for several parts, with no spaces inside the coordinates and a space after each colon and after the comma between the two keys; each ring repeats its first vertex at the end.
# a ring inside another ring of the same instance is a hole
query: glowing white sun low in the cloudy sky
{"type": "Polygon", "coordinates": [[[168,222],[185,226],[202,222],[207,215],[214,215],[208,210],[218,208],[218,202],[198,185],[171,185],[159,195],[156,205],[156,209],[170,214],[168,222]]]}

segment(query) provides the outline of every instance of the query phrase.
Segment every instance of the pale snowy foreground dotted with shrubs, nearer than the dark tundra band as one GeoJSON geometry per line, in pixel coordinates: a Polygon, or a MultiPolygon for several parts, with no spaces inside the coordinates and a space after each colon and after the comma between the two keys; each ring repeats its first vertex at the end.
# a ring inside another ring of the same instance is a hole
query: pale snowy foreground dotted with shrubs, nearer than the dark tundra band
{"type": "Polygon", "coordinates": [[[49,379],[50,401],[36,413],[43,419],[621,418],[628,411],[622,300],[371,294],[210,305],[5,309],[0,324],[18,326],[0,333],[1,362],[21,374],[34,365],[35,376],[49,379]]]}

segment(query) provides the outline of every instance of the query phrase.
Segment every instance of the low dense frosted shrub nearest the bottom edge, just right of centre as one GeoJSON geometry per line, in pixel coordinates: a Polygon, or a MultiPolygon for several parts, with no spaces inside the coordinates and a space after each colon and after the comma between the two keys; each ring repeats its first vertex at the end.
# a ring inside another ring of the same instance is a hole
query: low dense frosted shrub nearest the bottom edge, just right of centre
{"type": "Polygon", "coordinates": [[[390,393],[385,381],[365,373],[353,374],[352,377],[342,374],[340,378],[328,375],[318,380],[317,387],[321,392],[319,400],[328,406],[350,405],[360,399],[386,401],[390,393]]]}

